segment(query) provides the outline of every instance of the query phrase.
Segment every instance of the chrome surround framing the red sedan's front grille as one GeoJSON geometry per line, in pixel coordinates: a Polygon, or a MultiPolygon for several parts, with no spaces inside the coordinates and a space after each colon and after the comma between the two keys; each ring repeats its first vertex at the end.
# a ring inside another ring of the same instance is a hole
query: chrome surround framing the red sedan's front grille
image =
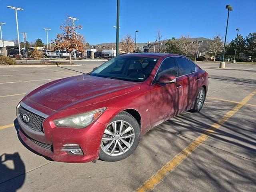
{"type": "MultiPolygon", "coordinates": [[[[27,126],[27,125],[21,120],[20,113],[19,113],[19,107],[20,107],[20,106],[24,107],[25,109],[31,111],[31,112],[34,113],[34,114],[37,114],[37,115],[39,115],[39,116],[42,116],[43,118],[47,118],[48,115],[46,115],[46,114],[44,114],[44,113],[42,113],[42,112],[40,112],[40,111],[38,111],[38,110],[36,110],[36,109],[34,109],[34,108],[28,106],[28,105],[26,105],[26,104],[24,104],[23,102],[20,102],[20,104],[18,104],[18,106],[17,106],[17,108],[16,108],[17,120],[18,120],[20,126],[21,126],[22,128],[24,128],[26,131],[28,131],[28,132],[30,132],[30,133],[32,133],[32,134],[44,136],[44,133],[43,133],[43,132],[39,132],[39,131],[36,131],[36,130],[31,129],[29,126],[27,126]]],[[[43,121],[43,122],[44,122],[44,121],[43,121]]],[[[43,129],[44,129],[44,127],[43,127],[43,129]]]]}

